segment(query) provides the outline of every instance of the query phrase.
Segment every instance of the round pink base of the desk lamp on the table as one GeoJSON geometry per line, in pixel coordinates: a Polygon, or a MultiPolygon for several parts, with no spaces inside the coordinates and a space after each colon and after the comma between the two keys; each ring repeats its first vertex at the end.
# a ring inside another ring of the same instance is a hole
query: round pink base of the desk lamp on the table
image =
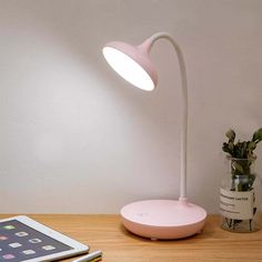
{"type": "Polygon", "coordinates": [[[204,226],[204,209],[189,203],[185,198],[147,200],[121,209],[123,225],[132,233],[151,240],[182,239],[204,226]]]}

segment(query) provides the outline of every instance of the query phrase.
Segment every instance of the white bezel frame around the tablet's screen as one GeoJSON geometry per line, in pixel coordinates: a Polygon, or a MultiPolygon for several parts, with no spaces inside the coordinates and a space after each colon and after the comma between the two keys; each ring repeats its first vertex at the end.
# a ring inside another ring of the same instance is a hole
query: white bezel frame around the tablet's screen
{"type": "Polygon", "coordinates": [[[71,250],[68,251],[63,251],[63,252],[58,252],[54,254],[49,254],[49,255],[44,255],[44,256],[39,256],[36,259],[30,259],[30,260],[23,260],[21,262],[42,262],[42,261],[53,261],[53,260],[58,260],[58,259],[66,259],[72,255],[77,255],[77,254],[82,254],[82,253],[87,253],[89,251],[89,246],[85,244],[82,244],[62,233],[59,233],[56,230],[52,230],[39,222],[37,222],[33,219],[30,219],[27,215],[18,215],[18,216],[12,216],[12,218],[8,218],[8,219],[1,219],[0,222],[7,222],[7,221],[11,221],[11,220],[17,220],[28,226],[30,226],[33,230],[39,231],[40,233],[43,233],[66,245],[71,246],[71,250]]]}

